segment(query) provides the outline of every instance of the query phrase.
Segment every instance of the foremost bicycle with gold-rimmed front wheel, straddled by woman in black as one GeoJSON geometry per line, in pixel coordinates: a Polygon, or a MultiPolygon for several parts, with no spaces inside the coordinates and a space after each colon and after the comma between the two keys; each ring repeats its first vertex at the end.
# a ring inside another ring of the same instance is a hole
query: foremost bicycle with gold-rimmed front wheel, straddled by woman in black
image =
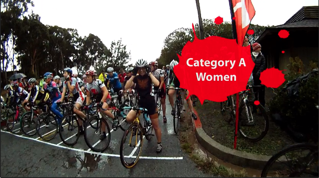
{"type": "Polygon", "coordinates": [[[121,159],[121,163],[125,168],[132,168],[136,165],[141,152],[142,152],[142,146],[143,146],[143,139],[144,137],[146,138],[146,140],[150,140],[152,138],[152,136],[154,136],[154,134],[152,134],[153,132],[153,127],[152,125],[147,125],[147,120],[145,117],[145,114],[147,113],[147,109],[145,108],[139,108],[136,106],[133,107],[124,107],[123,109],[130,109],[130,110],[135,110],[136,111],[136,118],[133,121],[133,123],[130,125],[130,127],[124,132],[122,140],[121,140],[121,144],[120,144],[120,159],[121,159]],[[144,125],[142,126],[139,116],[140,114],[143,114],[143,118],[144,118],[144,125]],[[126,136],[129,135],[129,132],[132,133],[130,134],[130,142],[129,142],[129,146],[132,147],[134,146],[134,150],[138,150],[138,154],[137,156],[133,156],[133,154],[135,153],[135,151],[133,150],[133,152],[129,155],[129,156],[125,156],[124,155],[124,146],[125,146],[125,141],[126,141],[126,136]],[[149,132],[151,131],[151,132],[149,132]],[[135,139],[135,145],[132,145],[132,137],[136,135],[136,139],[135,139]],[[137,137],[140,137],[139,142],[137,142],[137,137]],[[137,146],[140,146],[139,149],[136,148],[137,146]],[[128,163],[125,158],[132,158],[135,157],[134,161],[131,163],[128,163]]]}

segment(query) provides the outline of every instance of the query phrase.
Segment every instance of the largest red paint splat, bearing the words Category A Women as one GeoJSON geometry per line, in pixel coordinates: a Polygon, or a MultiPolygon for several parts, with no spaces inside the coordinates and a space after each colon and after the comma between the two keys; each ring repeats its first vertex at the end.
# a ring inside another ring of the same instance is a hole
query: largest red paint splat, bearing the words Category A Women
{"type": "Polygon", "coordinates": [[[227,96],[246,90],[255,66],[250,47],[238,45],[236,39],[218,36],[199,40],[195,35],[194,41],[186,43],[178,58],[179,64],[173,70],[180,87],[188,89],[189,96],[196,95],[202,104],[205,99],[226,101],[227,96]]]}

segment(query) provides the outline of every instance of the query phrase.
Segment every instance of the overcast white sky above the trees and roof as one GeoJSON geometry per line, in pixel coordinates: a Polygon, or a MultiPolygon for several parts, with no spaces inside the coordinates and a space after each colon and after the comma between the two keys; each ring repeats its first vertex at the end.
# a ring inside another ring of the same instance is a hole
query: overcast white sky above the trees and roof
{"type": "MultiPolygon", "coordinates": [[[[33,0],[34,13],[45,25],[75,28],[79,35],[92,33],[109,47],[122,38],[132,60],[154,61],[167,35],[180,27],[198,23],[195,0],[33,0]]],[[[230,21],[227,0],[199,0],[202,18],[218,16],[230,21]]],[[[302,6],[318,0],[252,0],[258,25],[281,25],[302,6]]]]}

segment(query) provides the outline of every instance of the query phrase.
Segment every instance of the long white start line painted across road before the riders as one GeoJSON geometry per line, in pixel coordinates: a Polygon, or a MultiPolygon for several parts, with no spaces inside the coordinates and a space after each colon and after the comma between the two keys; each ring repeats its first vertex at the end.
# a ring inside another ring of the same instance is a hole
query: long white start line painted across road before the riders
{"type": "MultiPolygon", "coordinates": [[[[25,136],[21,136],[21,135],[15,135],[15,134],[13,134],[13,133],[6,132],[6,131],[2,131],[2,130],[1,130],[1,132],[9,133],[9,134],[11,134],[11,135],[14,135],[14,136],[17,136],[17,137],[20,137],[20,138],[30,139],[30,140],[34,140],[34,141],[37,141],[37,142],[40,142],[40,143],[43,143],[43,144],[47,144],[47,145],[51,145],[51,146],[56,146],[56,147],[59,147],[59,148],[64,148],[64,149],[68,149],[68,150],[72,150],[72,151],[84,152],[84,153],[89,153],[89,154],[98,154],[98,155],[103,155],[103,156],[120,157],[119,154],[108,154],[108,153],[97,153],[97,152],[92,152],[92,151],[85,151],[85,150],[80,150],[80,149],[76,149],[76,148],[70,148],[70,147],[67,147],[67,146],[56,145],[56,144],[53,144],[53,143],[50,143],[50,142],[45,142],[45,141],[42,141],[42,140],[30,138],[30,137],[25,137],[25,136]]],[[[128,158],[129,156],[125,156],[125,157],[128,158]]],[[[132,158],[134,158],[134,156],[132,156],[132,158]]],[[[152,159],[152,160],[182,160],[183,157],[151,157],[151,156],[140,156],[140,159],[152,159]]]]}

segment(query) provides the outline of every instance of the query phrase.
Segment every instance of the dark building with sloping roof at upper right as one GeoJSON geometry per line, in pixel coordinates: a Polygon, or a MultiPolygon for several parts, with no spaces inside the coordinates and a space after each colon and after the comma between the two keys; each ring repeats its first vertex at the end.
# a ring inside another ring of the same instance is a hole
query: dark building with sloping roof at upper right
{"type": "Polygon", "coordinates": [[[318,6],[305,6],[285,24],[267,28],[256,42],[262,46],[268,68],[287,70],[290,57],[299,57],[305,67],[309,61],[318,61],[318,38],[318,6]],[[288,38],[280,38],[280,30],[287,30],[288,38]]]}

